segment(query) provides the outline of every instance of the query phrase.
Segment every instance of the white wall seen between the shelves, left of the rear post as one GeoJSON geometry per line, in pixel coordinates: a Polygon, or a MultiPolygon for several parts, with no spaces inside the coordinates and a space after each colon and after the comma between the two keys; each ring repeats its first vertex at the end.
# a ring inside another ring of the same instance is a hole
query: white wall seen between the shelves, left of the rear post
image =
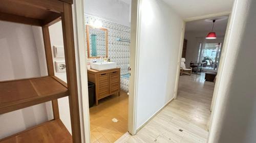
{"type": "MultiPolygon", "coordinates": [[[[47,75],[40,27],[0,21],[0,31],[0,81],[47,75]]],[[[0,138],[52,119],[48,104],[0,115],[0,138]]]]}

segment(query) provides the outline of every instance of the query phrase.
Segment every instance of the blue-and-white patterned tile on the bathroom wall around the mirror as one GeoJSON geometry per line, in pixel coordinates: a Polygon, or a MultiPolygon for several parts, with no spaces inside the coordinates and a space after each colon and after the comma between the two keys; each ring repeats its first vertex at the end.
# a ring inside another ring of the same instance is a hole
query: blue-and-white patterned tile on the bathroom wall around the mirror
{"type": "MultiPolygon", "coordinates": [[[[117,66],[121,68],[121,74],[128,73],[128,68],[130,66],[130,43],[117,41],[117,38],[130,40],[131,28],[92,15],[86,14],[84,15],[84,18],[86,20],[86,25],[95,20],[102,22],[102,27],[108,30],[108,53],[111,62],[117,63],[117,66]]],[[[85,45],[87,46],[87,43],[85,45]]],[[[129,91],[129,79],[121,77],[121,90],[125,92],[129,91]]]]}

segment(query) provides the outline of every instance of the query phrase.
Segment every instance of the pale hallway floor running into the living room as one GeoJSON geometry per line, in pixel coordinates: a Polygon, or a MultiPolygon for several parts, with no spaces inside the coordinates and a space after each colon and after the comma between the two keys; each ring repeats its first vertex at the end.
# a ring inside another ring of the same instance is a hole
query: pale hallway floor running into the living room
{"type": "Polygon", "coordinates": [[[204,81],[204,73],[181,76],[177,99],[164,107],[136,135],[125,133],[116,142],[206,142],[213,91],[214,83],[204,81]]]}

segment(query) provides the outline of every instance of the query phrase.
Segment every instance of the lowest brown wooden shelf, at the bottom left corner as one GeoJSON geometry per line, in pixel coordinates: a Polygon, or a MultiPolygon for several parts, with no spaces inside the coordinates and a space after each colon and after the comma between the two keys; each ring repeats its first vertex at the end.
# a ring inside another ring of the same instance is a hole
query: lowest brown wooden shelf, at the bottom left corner
{"type": "Polygon", "coordinates": [[[0,139],[0,143],[72,143],[72,136],[57,119],[52,120],[31,129],[0,139]]]}

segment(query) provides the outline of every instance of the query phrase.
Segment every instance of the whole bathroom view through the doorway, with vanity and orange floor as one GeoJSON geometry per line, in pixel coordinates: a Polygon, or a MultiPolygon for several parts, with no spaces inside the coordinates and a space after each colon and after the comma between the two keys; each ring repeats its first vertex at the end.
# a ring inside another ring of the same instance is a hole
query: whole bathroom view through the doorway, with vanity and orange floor
{"type": "Polygon", "coordinates": [[[131,1],[85,1],[91,142],[127,132],[131,1]]]}

